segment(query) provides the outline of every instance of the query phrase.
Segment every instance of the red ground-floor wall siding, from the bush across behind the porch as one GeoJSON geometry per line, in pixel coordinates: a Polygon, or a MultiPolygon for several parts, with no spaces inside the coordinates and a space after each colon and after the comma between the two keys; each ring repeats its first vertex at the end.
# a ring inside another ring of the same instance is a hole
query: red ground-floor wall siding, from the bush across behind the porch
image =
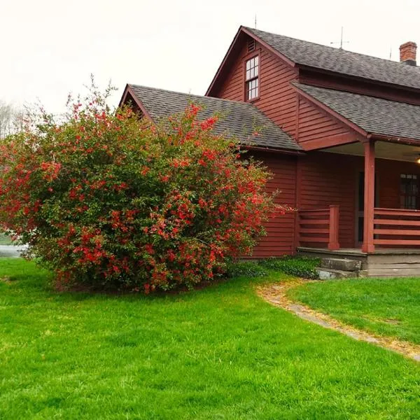
{"type": "MultiPolygon", "coordinates": [[[[274,174],[267,191],[280,190],[276,202],[298,209],[322,209],[339,206],[339,244],[353,248],[356,241],[358,176],[363,172],[363,156],[311,152],[295,158],[260,153],[274,174]],[[299,159],[299,162],[297,162],[299,159]]],[[[400,208],[400,174],[417,174],[420,166],[410,162],[377,159],[377,205],[400,208]]],[[[272,218],[265,224],[267,236],[255,246],[252,258],[268,258],[295,253],[295,213],[272,218]]]]}

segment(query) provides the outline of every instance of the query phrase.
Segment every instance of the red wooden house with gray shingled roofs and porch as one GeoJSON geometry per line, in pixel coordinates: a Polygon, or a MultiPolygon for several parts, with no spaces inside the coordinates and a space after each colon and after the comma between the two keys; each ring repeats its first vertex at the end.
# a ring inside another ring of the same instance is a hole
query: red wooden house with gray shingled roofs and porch
{"type": "Polygon", "coordinates": [[[333,253],[368,275],[420,274],[415,43],[393,62],[240,27],[204,97],[127,85],[121,99],[152,120],[190,101],[203,118],[225,113],[218,130],[263,160],[268,189],[297,209],[267,223],[255,258],[333,253]]]}

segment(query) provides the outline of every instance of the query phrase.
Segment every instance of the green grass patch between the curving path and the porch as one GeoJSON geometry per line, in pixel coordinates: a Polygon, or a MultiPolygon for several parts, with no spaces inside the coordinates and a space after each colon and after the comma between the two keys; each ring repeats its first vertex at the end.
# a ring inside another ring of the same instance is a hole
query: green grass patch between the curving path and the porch
{"type": "Polygon", "coordinates": [[[288,295],[344,323],[420,344],[418,278],[307,283],[289,290],[288,295]]]}

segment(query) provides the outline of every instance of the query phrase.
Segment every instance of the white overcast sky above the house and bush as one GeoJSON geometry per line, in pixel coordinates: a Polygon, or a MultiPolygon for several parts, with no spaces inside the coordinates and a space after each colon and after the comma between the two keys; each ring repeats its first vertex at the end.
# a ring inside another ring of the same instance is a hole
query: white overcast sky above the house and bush
{"type": "MultiPolygon", "coordinates": [[[[97,82],[204,94],[239,25],[399,59],[420,47],[419,0],[0,0],[0,100],[62,110],[97,82]]],[[[420,48],[419,48],[420,55],[420,48]]]]}

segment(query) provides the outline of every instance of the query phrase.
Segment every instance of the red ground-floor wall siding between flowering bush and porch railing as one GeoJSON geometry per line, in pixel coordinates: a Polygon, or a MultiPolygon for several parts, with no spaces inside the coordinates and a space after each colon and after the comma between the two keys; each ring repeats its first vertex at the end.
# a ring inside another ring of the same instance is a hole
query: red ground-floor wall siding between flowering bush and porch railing
{"type": "MultiPolygon", "coordinates": [[[[255,155],[273,174],[267,184],[267,192],[279,190],[276,202],[295,206],[296,158],[284,155],[255,155]]],[[[253,258],[267,258],[295,253],[295,213],[285,214],[270,219],[265,223],[267,236],[258,241],[253,250],[253,258]]]]}

